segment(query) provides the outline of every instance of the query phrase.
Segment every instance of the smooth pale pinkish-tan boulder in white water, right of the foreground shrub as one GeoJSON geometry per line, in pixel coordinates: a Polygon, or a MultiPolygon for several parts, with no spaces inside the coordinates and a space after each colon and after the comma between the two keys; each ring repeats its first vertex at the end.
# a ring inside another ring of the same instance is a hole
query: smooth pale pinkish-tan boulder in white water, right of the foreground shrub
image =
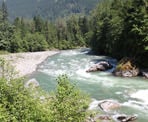
{"type": "Polygon", "coordinates": [[[109,112],[115,109],[120,108],[120,103],[114,100],[103,100],[100,101],[98,106],[105,112],[109,112]]]}

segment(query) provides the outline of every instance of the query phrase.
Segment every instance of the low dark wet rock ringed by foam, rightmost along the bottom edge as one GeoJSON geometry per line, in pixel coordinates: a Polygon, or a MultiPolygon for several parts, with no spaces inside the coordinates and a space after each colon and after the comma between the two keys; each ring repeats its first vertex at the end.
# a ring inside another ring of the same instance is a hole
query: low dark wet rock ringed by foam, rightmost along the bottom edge
{"type": "Polygon", "coordinates": [[[137,116],[129,116],[129,115],[115,115],[113,117],[116,121],[119,122],[133,122],[137,119],[137,116]]]}

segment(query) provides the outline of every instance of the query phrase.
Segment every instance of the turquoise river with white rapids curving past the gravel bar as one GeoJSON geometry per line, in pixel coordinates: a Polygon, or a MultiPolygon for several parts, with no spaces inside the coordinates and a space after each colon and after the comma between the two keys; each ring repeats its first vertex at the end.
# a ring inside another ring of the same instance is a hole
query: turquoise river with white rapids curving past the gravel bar
{"type": "Polygon", "coordinates": [[[47,91],[54,91],[56,78],[67,74],[72,82],[93,99],[90,108],[96,109],[99,100],[111,99],[122,104],[116,114],[136,115],[137,122],[148,121],[148,80],[140,77],[114,77],[107,72],[87,73],[86,70],[100,60],[116,65],[115,59],[90,55],[89,49],[61,51],[38,66],[31,78],[39,81],[47,91]]]}

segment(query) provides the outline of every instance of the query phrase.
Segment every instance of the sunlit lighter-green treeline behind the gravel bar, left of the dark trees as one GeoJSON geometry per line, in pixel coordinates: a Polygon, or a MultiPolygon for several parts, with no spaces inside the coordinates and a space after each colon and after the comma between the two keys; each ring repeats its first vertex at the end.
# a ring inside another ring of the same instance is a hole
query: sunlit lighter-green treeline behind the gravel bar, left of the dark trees
{"type": "Polygon", "coordinates": [[[34,16],[32,20],[16,17],[12,25],[6,19],[7,9],[4,3],[2,8],[0,50],[14,53],[88,46],[90,24],[84,15],[72,15],[58,19],[55,23],[44,20],[40,15],[34,16]]]}

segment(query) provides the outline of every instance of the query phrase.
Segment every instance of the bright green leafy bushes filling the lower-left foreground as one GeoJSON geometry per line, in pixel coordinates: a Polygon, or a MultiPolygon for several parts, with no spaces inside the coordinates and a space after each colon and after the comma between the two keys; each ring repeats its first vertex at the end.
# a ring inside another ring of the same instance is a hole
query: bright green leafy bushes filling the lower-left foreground
{"type": "Polygon", "coordinates": [[[66,76],[57,80],[57,90],[47,94],[24,85],[13,68],[0,60],[0,121],[2,122],[83,122],[88,97],[66,76]],[[42,99],[42,98],[43,99],[42,99]]]}

